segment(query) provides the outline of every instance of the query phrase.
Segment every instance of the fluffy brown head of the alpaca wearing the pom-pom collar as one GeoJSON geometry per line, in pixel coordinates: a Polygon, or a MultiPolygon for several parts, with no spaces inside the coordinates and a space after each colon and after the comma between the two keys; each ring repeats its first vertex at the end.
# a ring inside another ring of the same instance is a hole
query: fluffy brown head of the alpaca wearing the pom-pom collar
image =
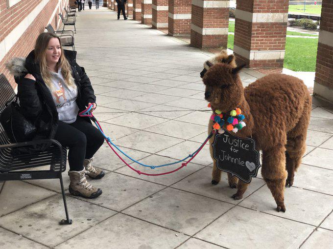
{"type": "Polygon", "coordinates": [[[238,72],[244,65],[236,66],[234,55],[226,55],[223,61],[205,62],[209,66],[203,76],[206,85],[205,100],[211,103],[213,110],[227,112],[238,107],[244,90],[238,72]]]}

